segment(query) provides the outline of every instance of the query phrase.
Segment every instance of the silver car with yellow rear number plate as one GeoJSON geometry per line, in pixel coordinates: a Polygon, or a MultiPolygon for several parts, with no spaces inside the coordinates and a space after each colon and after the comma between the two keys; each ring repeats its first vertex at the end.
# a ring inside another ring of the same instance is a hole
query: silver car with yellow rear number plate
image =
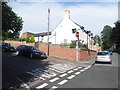
{"type": "Polygon", "coordinates": [[[109,51],[100,51],[97,53],[95,62],[109,62],[112,63],[111,54],[109,51]]]}

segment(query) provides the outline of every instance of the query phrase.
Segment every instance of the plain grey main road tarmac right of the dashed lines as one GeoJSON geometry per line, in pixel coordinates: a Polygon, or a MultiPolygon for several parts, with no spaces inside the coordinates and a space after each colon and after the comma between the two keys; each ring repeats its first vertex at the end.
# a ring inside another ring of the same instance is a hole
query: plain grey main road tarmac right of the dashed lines
{"type": "Polygon", "coordinates": [[[113,63],[95,64],[72,79],[62,88],[118,88],[118,55],[113,54],[113,63]]]}

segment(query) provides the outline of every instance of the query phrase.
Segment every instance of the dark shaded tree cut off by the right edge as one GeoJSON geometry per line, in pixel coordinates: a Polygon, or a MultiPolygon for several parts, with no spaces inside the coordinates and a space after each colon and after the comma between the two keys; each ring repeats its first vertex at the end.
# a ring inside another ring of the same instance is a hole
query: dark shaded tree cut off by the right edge
{"type": "Polygon", "coordinates": [[[116,44],[117,48],[120,47],[120,20],[115,23],[115,27],[113,27],[110,35],[110,40],[112,44],[116,44]]]}

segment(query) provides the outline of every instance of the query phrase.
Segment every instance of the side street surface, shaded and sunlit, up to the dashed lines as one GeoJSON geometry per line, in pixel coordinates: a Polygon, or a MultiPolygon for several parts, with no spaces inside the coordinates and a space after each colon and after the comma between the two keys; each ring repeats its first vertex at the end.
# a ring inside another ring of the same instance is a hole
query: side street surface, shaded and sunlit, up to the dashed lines
{"type": "Polygon", "coordinates": [[[30,88],[78,65],[57,58],[30,59],[14,52],[2,53],[2,88],[30,88]]]}

